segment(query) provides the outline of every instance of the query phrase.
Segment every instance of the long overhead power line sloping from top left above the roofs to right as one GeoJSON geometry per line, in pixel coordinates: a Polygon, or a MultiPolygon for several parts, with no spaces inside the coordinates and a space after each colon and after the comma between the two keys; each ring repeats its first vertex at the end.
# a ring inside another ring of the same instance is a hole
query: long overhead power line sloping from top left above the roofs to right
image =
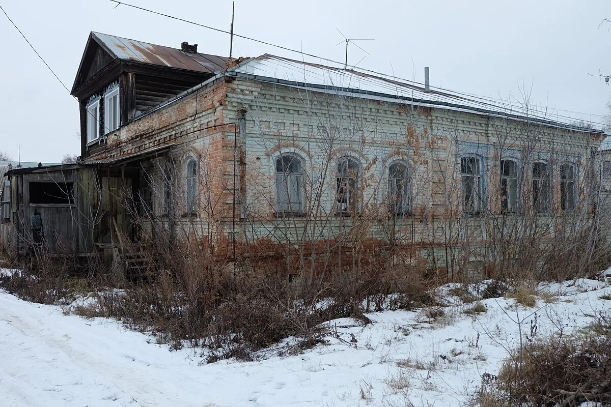
{"type": "MultiPolygon", "coordinates": [[[[269,41],[258,40],[257,38],[247,37],[246,35],[235,34],[235,32],[232,33],[230,31],[219,29],[217,27],[211,27],[211,26],[207,26],[205,24],[196,23],[195,21],[186,20],[185,18],[180,18],[180,17],[169,15],[169,14],[166,14],[166,13],[156,12],[155,10],[146,9],[145,7],[140,7],[138,5],[129,4],[129,3],[126,3],[126,2],[123,2],[123,1],[120,1],[120,0],[109,0],[109,1],[114,2],[114,3],[117,4],[115,6],[115,8],[118,7],[119,5],[126,5],[128,7],[132,7],[133,9],[141,10],[141,11],[144,11],[144,12],[147,12],[147,13],[152,13],[152,14],[159,15],[159,16],[164,16],[164,17],[170,18],[172,20],[181,21],[183,23],[192,24],[194,26],[203,27],[203,28],[210,29],[210,30],[217,31],[217,32],[222,32],[224,34],[229,34],[229,35],[233,34],[235,37],[244,38],[245,40],[254,41],[254,42],[257,42],[257,43],[260,43],[260,44],[264,44],[264,45],[268,45],[268,46],[273,46],[273,47],[279,48],[279,49],[284,49],[285,51],[296,52],[297,54],[301,54],[303,56],[313,57],[313,58],[324,60],[324,61],[327,61],[327,62],[336,63],[337,65],[340,65],[340,66],[341,65],[345,65],[345,67],[348,67],[347,62],[338,62],[336,60],[332,60],[332,59],[329,59],[329,58],[326,58],[326,57],[321,57],[321,56],[318,56],[318,55],[315,55],[315,54],[310,54],[308,52],[299,51],[298,49],[292,49],[292,48],[288,48],[286,46],[277,45],[277,44],[271,43],[269,41]]],[[[354,66],[354,65],[351,65],[351,67],[352,68],[356,68],[356,66],[354,66]]],[[[361,70],[361,71],[367,72],[367,73],[373,73],[373,74],[376,74],[376,75],[390,77],[388,74],[380,73],[378,71],[368,70],[368,69],[365,69],[365,68],[358,68],[358,69],[361,70]]],[[[403,81],[403,82],[406,82],[406,83],[422,85],[420,82],[411,81],[411,80],[404,79],[402,77],[398,77],[398,76],[394,76],[394,75],[392,76],[392,78],[394,80],[403,81]]],[[[437,90],[440,90],[440,91],[444,91],[444,92],[452,92],[452,93],[455,93],[455,95],[468,96],[470,98],[474,98],[474,97],[475,98],[480,98],[481,99],[480,103],[486,103],[486,101],[488,101],[488,102],[501,101],[503,103],[507,102],[506,100],[492,98],[491,96],[475,95],[474,93],[466,93],[466,92],[461,92],[461,91],[458,91],[458,90],[452,90],[452,89],[448,89],[448,88],[435,87],[435,86],[431,86],[431,88],[437,89],[437,90]]],[[[533,110],[534,112],[539,112],[539,113],[546,113],[543,110],[538,110],[538,109],[529,109],[529,110],[533,110]]],[[[554,110],[559,110],[559,111],[562,111],[562,112],[569,112],[569,113],[576,113],[578,115],[590,115],[590,116],[596,116],[596,117],[605,118],[604,115],[596,115],[596,114],[593,114],[593,113],[585,113],[585,112],[576,112],[574,110],[557,109],[557,108],[554,108],[554,110]]],[[[579,120],[576,117],[569,117],[569,116],[559,115],[559,114],[555,114],[553,116],[559,117],[559,118],[565,118],[565,119],[569,119],[569,120],[579,120]]],[[[591,121],[591,120],[588,120],[588,123],[599,124],[601,126],[606,125],[604,123],[598,123],[596,121],[591,121]]]]}

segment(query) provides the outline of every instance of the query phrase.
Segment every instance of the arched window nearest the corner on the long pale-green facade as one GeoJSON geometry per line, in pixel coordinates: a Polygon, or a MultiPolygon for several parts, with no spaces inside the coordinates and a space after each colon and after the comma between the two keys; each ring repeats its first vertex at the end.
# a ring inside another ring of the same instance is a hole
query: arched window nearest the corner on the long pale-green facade
{"type": "Polygon", "coordinates": [[[303,165],[296,154],[283,154],[276,159],[276,211],[304,210],[303,165]]]}

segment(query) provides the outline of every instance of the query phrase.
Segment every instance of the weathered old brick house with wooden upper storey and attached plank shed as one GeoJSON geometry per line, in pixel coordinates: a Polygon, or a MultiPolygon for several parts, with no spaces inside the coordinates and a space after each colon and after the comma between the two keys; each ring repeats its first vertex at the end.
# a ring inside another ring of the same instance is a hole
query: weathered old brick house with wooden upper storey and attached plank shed
{"type": "Polygon", "coordinates": [[[356,68],[194,51],[92,33],[81,160],[12,172],[18,234],[26,183],[45,177],[70,184],[80,253],[163,229],[219,256],[398,245],[453,269],[494,258],[507,225],[550,235],[593,213],[602,131],[356,68]]]}

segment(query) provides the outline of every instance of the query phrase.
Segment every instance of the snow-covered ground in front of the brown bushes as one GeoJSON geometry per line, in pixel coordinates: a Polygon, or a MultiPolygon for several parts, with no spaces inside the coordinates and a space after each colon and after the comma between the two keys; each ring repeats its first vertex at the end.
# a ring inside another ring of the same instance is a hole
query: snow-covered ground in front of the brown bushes
{"type": "Polygon", "coordinates": [[[335,320],[329,344],[301,355],[213,364],[112,320],[64,315],[0,291],[0,405],[461,406],[483,373],[498,372],[519,325],[525,336],[546,336],[610,311],[611,300],[599,298],[611,295],[609,283],[568,285],[542,286],[551,295],[534,308],[493,298],[476,315],[459,304],[436,320],[422,309],[367,314],[373,323],[365,326],[335,320]]]}

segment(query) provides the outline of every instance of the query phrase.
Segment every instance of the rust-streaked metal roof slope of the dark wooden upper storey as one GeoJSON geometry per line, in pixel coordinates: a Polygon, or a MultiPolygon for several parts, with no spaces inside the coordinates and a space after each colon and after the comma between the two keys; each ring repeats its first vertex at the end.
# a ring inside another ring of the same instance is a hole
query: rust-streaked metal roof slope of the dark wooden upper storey
{"type": "Polygon", "coordinates": [[[227,58],[209,54],[191,54],[180,49],[163,45],[155,45],[142,41],[129,40],[115,35],[92,32],[102,46],[115,57],[141,63],[150,63],[162,67],[219,73],[225,70],[227,58]]]}

